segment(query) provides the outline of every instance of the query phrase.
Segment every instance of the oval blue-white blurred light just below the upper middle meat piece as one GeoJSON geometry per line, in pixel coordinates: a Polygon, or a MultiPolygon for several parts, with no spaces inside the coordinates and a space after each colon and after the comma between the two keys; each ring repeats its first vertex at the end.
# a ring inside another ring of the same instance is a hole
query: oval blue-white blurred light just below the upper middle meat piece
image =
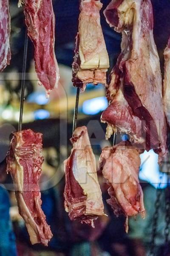
{"type": "Polygon", "coordinates": [[[94,99],[88,99],[82,104],[82,112],[86,115],[95,115],[100,111],[105,110],[108,107],[107,99],[103,97],[97,97],[94,99]]]}

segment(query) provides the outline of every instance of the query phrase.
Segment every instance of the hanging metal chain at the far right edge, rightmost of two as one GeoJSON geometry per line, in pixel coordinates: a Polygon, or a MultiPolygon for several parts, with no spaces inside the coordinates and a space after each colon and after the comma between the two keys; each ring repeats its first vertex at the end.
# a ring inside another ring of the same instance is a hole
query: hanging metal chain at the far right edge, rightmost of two
{"type": "Polygon", "coordinates": [[[165,230],[164,230],[164,235],[165,235],[165,248],[164,248],[164,256],[167,256],[167,253],[169,252],[169,233],[170,233],[170,174],[167,174],[167,188],[165,189],[165,230]]]}

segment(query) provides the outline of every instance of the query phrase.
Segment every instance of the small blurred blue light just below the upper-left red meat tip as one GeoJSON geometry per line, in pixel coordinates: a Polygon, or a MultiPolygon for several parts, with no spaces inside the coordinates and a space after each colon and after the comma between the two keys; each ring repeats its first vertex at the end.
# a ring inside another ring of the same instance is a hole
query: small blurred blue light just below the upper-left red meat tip
{"type": "Polygon", "coordinates": [[[34,92],[28,96],[27,102],[45,105],[49,102],[49,99],[47,99],[45,92],[34,92]]]}

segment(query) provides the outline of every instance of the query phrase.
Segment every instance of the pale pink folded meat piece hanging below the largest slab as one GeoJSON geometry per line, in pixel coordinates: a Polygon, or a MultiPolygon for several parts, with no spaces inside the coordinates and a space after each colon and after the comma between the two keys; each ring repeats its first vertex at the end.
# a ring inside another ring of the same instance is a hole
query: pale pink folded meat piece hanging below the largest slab
{"type": "Polygon", "coordinates": [[[118,217],[124,214],[127,217],[125,229],[128,231],[128,217],[141,213],[145,216],[143,192],[139,183],[138,173],[141,160],[139,150],[129,142],[121,142],[113,147],[105,147],[99,160],[107,183],[110,185],[108,194],[114,214],[118,217]]]}

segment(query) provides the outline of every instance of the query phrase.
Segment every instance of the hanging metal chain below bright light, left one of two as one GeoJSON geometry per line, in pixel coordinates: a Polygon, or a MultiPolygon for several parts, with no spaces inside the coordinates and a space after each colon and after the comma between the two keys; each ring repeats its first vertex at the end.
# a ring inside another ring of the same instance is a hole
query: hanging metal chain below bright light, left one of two
{"type": "Polygon", "coordinates": [[[155,248],[155,240],[156,240],[156,230],[158,226],[158,217],[159,217],[159,207],[160,207],[160,199],[161,199],[161,179],[162,174],[160,176],[160,183],[158,185],[158,188],[156,190],[156,201],[155,201],[155,212],[153,215],[153,228],[152,228],[152,239],[150,244],[150,256],[154,256],[154,248],[155,248]]]}

